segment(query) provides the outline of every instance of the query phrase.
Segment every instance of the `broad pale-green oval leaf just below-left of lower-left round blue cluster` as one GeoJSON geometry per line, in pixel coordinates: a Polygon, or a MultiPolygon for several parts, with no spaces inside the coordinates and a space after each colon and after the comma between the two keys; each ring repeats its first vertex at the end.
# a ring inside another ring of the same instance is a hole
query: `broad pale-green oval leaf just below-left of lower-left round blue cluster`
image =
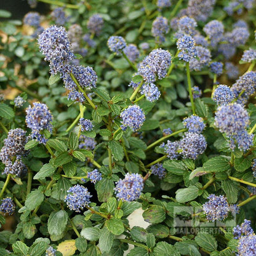
{"type": "Polygon", "coordinates": [[[68,223],[68,214],[65,212],[65,210],[52,212],[47,224],[49,234],[59,236],[65,230],[66,223],[68,223]]]}

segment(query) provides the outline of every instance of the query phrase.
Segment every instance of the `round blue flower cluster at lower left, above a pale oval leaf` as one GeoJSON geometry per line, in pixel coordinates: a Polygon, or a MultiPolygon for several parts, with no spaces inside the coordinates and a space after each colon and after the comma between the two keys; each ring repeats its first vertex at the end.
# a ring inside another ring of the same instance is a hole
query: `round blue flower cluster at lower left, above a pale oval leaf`
{"type": "Polygon", "coordinates": [[[74,210],[75,212],[80,212],[84,209],[84,207],[89,206],[90,192],[81,185],[72,186],[68,191],[68,195],[65,196],[64,201],[66,202],[68,208],[70,210],[74,210]]]}

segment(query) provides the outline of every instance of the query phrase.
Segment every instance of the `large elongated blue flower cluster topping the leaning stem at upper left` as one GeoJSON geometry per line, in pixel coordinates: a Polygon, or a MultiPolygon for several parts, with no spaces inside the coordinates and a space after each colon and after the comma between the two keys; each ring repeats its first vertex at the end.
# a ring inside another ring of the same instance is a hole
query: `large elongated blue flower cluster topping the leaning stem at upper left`
{"type": "Polygon", "coordinates": [[[68,34],[63,26],[54,25],[44,30],[38,37],[38,44],[39,50],[46,56],[44,60],[50,62],[52,74],[62,72],[63,66],[74,58],[68,34]]]}

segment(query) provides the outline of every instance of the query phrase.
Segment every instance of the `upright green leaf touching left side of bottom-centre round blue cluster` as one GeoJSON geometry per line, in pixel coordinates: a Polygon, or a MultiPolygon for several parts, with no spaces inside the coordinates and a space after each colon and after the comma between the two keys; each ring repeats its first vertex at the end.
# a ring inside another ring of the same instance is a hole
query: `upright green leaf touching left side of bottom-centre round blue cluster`
{"type": "Polygon", "coordinates": [[[96,183],[95,189],[98,194],[98,201],[106,202],[108,198],[111,198],[114,191],[114,182],[109,178],[103,178],[99,182],[96,183]]]}

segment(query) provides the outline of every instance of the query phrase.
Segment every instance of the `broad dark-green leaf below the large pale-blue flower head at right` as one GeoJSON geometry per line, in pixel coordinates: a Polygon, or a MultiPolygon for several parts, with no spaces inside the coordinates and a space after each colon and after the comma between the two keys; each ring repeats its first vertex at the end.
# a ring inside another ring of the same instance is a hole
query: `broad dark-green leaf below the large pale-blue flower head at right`
{"type": "Polygon", "coordinates": [[[215,158],[210,158],[202,165],[206,172],[226,172],[230,170],[230,161],[223,156],[216,156],[215,158]]]}

